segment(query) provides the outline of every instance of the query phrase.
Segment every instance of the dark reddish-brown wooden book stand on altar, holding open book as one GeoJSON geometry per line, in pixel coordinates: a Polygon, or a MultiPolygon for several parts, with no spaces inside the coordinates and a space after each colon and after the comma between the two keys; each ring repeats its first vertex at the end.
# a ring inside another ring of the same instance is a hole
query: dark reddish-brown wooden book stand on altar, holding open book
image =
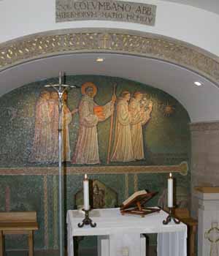
{"type": "Polygon", "coordinates": [[[134,199],[126,203],[125,206],[120,206],[120,213],[122,215],[134,214],[145,217],[147,214],[153,214],[154,212],[160,211],[160,208],[144,207],[145,203],[156,194],[157,192],[147,192],[145,195],[137,195],[137,197],[134,197],[134,199]]]}

